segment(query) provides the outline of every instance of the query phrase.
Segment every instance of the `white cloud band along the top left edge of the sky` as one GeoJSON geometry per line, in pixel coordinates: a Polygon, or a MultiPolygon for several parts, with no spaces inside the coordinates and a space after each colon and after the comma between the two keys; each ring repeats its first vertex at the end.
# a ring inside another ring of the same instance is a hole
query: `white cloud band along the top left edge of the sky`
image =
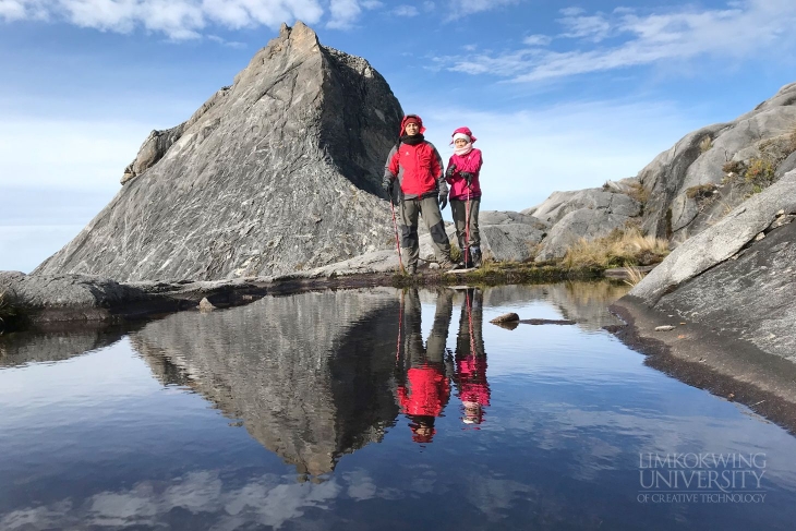
{"type": "MultiPolygon", "coordinates": [[[[329,24],[342,27],[361,9],[357,0],[331,0],[329,11],[329,24]]],[[[0,0],[0,21],[62,20],[117,33],[141,27],[173,40],[197,38],[210,25],[277,28],[296,20],[315,24],[323,15],[321,0],[0,0]]]]}

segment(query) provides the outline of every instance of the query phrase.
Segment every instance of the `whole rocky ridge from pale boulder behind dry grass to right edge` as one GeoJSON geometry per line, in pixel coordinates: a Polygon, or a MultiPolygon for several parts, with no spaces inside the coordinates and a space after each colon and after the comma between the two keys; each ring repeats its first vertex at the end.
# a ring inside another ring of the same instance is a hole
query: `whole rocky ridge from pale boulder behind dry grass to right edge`
{"type": "Polygon", "coordinates": [[[579,239],[628,222],[673,246],[714,225],[796,168],[796,83],[738,119],[686,135],[635,178],[602,189],[554,192],[522,210],[550,225],[536,262],[560,258],[579,239]]]}

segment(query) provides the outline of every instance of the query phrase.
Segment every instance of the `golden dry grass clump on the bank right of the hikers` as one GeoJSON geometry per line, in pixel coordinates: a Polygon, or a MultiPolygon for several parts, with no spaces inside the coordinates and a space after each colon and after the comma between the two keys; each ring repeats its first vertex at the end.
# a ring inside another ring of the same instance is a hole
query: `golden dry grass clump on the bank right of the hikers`
{"type": "Polygon", "coordinates": [[[661,262],[668,254],[668,241],[643,236],[637,227],[615,229],[604,238],[581,238],[567,250],[562,265],[567,269],[608,269],[661,262]]]}

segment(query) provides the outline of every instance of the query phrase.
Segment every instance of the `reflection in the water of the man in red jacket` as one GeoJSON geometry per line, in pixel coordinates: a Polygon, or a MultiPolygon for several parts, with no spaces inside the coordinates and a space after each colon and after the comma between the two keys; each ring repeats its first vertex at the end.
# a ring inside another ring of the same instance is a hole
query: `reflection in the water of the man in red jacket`
{"type": "Polygon", "coordinates": [[[414,288],[407,295],[407,331],[402,357],[406,372],[398,384],[398,405],[401,412],[409,418],[412,441],[431,443],[436,433],[434,422],[450,398],[448,374],[453,372],[453,366],[446,366],[446,361],[450,365],[450,360],[446,360],[445,343],[453,315],[453,301],[449,292],[442,292],[437,297],[431,336],[423,348],[420,295],[414,288]]]}

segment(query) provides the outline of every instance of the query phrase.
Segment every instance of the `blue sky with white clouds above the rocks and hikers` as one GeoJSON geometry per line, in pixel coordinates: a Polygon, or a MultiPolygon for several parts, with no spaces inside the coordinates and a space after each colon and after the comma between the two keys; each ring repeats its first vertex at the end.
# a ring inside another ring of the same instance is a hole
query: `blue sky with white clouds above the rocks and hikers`
{"type": "Polygon", "coordinates": [[[296,20],[366,58],[444,158],[473,130],[483,209],[634,176],[796,81],[794,0],[0,0],[0,269],[65,244],[149,131],[296,20]]]}

